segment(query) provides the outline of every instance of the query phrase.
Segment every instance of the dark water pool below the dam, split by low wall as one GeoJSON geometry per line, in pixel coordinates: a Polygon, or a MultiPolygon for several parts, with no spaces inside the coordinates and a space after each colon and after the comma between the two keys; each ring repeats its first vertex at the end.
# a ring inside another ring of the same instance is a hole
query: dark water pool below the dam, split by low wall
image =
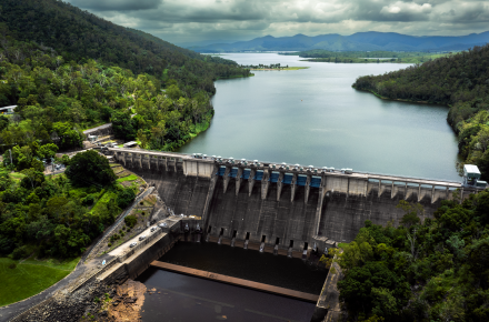
{"type": "MultiPolygon", "coordinates": [[[[327,276],[326,270],[300,259],[206,242],[179,242],[159,261],[310,294],[321,292],[327,276]]],[[[154,294],[144,296],[144,322],[309,322],[316,306],[156,268],[146,270],[138,281],[156,289],[154,294]]]]}

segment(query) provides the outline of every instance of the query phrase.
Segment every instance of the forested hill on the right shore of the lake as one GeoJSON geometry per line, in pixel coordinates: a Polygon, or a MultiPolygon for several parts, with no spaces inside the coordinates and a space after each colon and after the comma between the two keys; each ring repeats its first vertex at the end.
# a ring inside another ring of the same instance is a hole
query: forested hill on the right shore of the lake
{"type": "Polygon", "coordinates": [[[388,99],[451,105],[448,122],[459,135],[465,163],[489,180],[489,44],[353,83],[388,99]]]}

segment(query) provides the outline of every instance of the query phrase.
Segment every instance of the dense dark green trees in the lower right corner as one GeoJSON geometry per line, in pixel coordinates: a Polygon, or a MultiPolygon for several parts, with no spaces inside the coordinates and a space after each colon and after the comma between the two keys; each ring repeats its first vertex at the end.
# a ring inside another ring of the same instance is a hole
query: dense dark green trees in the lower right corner
{"type": "Polygon", "coordinates": [[[400,208],[409,224],[366,221],[338,254],[350,321],[488,321],[489,191],[442,201],[423,222],[420,205],[400,208]]]}

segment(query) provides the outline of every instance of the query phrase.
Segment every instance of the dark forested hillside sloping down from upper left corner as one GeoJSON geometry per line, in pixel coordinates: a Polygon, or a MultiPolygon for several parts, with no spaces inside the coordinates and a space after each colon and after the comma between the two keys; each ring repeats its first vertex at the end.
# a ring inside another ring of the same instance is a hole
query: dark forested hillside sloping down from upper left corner
{"type": "Polygon", "coordinates": [[[216,92],[212,81],[218,78],[249,74],[229,60],[203,57],[62,1],[2,0],[0,8],[0,23],[13,39],[52,48],[67,61],[94,59],[137,74],[164,74],[163,81],[176,79],[209,93],[216,92]]]}

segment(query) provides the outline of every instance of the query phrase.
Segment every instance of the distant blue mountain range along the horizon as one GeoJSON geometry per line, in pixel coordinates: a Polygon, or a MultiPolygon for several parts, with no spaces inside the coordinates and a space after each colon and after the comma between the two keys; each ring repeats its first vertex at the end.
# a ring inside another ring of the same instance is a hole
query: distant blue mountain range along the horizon
{"type": "Polygon", "coordinates": [[[332,51],[450,51],[466,50],[473,46],[489,42],[489,31],[459,37],[443,36],[407,36],[396,32],[357,32],[351,36],[321,34],[309,37],[275,38],[266,36],[249,41],[233,43],[212,43],[193,46],[188,49],[198,52],[236,52],[236,51],[305,51],[326,49],[332,51]]]}

